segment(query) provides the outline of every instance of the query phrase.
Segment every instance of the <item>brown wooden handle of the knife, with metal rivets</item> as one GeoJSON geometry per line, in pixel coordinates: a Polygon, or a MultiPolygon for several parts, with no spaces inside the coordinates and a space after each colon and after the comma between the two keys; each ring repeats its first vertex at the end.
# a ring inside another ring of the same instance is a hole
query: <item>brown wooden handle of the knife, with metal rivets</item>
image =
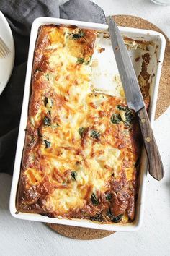
{"type": "Polygon", "coordinates": [[[143,135],[144,146],[148,155],[149,174],[151,174],[153,178],[160,181],[164,176],[164,166],[161,161],[161,156],[158,152],[158,146],[156,145],[156,140],[153,135],[153,130],[148,119],[146,108],[144,107],[140,109],[137,114],[140,129],[143,135]]]}

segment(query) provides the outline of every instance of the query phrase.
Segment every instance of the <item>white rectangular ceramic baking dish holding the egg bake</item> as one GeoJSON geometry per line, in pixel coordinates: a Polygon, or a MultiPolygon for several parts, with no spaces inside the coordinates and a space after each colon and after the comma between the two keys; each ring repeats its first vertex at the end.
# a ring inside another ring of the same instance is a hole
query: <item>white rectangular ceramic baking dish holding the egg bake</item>
{"type": "MultiPolygon", "coordinates": [[[[61,20],[56,18],[49,18],[49,17],[40,17],[37,18],[32,24],[32,30],[30,35],[30,48],[29,48],[29,55],[28,55],[28,62],[27,62],[27,74],[24,86],[24,98],[22,103],[22,114],[20,119],[19,125],[19,135],[17,140],[17,151],[16,157],[14,162],[14,174],[12,179],[12,189],[10,195],[10,212],[12,216],[15,218],[20,218],[24,220],[30,221],[41,221],[47,223],[58,223],[64,225],[71,225],[71,226],[82,226],[92,229],[105,229],[110,231],[136,231],[140,228],[141,223],[143,221],[143,212],[144,212],[144,202],[145,202],[145,188],[146,188],[146,174],[147,174],[147,159],[146,153],[143,150],[143,155],[141,157],[141,164],[140,164],[140,180],[139,180],[139,191],[138,191],[138,200],[136,205],[136,214],[135,214],[135,221],[132,223],[127,224],[101,224],[101,223],[94,223],[88,220],[68,220],[62,218],[48,218],[46,216],[41,216],[40,214],[33,214],[33,213],[16,213],[16,195],[17,195],[17,185],[19,181],[19,174],[20,174],[20,166],[22,161],[22,150],[24,147],[24,137],[25,132],[24,129],[27,126],[27,113],[28,113],[28,106],[29,106],[29,99],[30,99],[30,82],[31,82],[31,74],[32,74],[32,61],[34,57],[34,50],[35,50],[35,42],[37,39],[38,28],[40,25],[45,24],[63,24],[63,25],[76,25],[79,27],[94,29],[94,30],[103,30],[106,31],[108,29],[107,25],[91,23],[91,22],[79,22],[74,20],[61,20]]],[[[156,98],[158,95],[158,84],[161,77],[161,66],[164,59],[164,49],[166,45],[166,40],[164,35],[161,33],[157,33],[151,30],[139,30],[134,28],[128,27],[120,27],[120,31],[123,36],[128,36],[129,38],[138,39],[138,40],[147,40],[153,42],[153,47],[149,49],[149,54],[152,55],[151,63],[148,66],[148,69],[151,72],[151,87],[150,87],[150,95],[151,95],[151,104],[150,104],[150,111],[149,117],[151,120],[151,124],[153,124],[154,115],[156,111],[156,98]]],[[[100,46],[102,46],[102,42],[99,42],[100,46]]],[[[107,43],[108,44],[108,43],[107,43]]],[[[117,76],[117,65],[115,62],[114,54],[112,52],[111,43],[109,43],[106,47],[106,51],[104,51],[105,55],[98,55],[94,53],[94,57],[98,58],[99,61],[99,68],[102,68],[102,72],[98,72],[96,74],[97,82],[95,86],[101,89],[101,83],[105,83],[105,85],[110,80],[110,74],[117,76]],[[95,55],[96,54],[96,55],[95,55]],[[102,57],[101,57],[102,56],[102,57]],[[101,66],[102,65],[102,66],[101,66]],[[101,67],[100,67],[101,66],[101,67]],[[102,82],[101,82],[102,81],[102,82]]],[[[135,58],[139,56],[139,54],[143,54],[143,50],[137,49],[136,51],[129,51],[130,57],[133,61],[135,72],[138,75],[140,72],[140,61],[137,63],[135,58]]],[[[95,80],[95,74],[94,74],[95,80]]],[[[112,94],[112,92],[111,92],[112,94]]]]}

